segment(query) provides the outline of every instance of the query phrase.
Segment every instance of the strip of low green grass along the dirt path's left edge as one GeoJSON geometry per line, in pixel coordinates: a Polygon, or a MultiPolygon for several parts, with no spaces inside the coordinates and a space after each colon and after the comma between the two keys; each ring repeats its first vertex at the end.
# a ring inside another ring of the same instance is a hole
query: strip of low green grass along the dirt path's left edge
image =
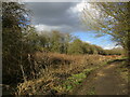
{"type": "MultiPolygon", "coordinates": [[[[63,93],[63,94],[64,93],[68,94],[69,92],[73,92],[75,89],[75,87],[82,84],[83,80],[87,79],[90,73],[92,73],[96,69],[107,65],[108,61],[107,60],[103,61],[101,65],[98,65],[96,67],[83,69],[80,73],[72,74],[62,84],[58,84],[57,86],[55,86],[54,89],[57,91],[58,93],[63,93]]],[[[89,92],[87,92],[87,94],[94,95],[95,94],[94,88],[92,87],[89,92]]]]}

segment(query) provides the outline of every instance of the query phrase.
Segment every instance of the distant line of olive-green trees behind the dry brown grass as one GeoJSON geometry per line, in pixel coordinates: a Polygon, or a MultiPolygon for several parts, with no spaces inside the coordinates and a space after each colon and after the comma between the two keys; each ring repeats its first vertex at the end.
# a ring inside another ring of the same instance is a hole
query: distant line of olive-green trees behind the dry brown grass
{"type": "Polygon", "coordinates": [[[31,28],[28,32],[31,38],[29,44],[40,52],[53,52],[61,54],[100,54],[100,55],[121,55],[122,48],[103,50],[101,46],[81,41],[70,33],[56,30],[38,32],[31,28]],[[34,30],[34,31],[32,31],[34,30]],[[31,31],[31,32],[30,32],[31,31]]]}

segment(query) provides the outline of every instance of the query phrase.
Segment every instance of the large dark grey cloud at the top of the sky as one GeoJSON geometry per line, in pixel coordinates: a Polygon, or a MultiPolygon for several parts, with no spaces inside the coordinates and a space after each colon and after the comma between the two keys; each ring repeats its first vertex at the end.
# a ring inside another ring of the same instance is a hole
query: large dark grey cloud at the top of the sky
{"type": "Polygon", "coordinates": [[[63,31],[79,28],[79,18],[75,13],[68,13],[77,2],[26,2],[34,13],[34,25],[61,26],[63,31]],[[67,28],[68,27],[68,28],[67,28]]]}

